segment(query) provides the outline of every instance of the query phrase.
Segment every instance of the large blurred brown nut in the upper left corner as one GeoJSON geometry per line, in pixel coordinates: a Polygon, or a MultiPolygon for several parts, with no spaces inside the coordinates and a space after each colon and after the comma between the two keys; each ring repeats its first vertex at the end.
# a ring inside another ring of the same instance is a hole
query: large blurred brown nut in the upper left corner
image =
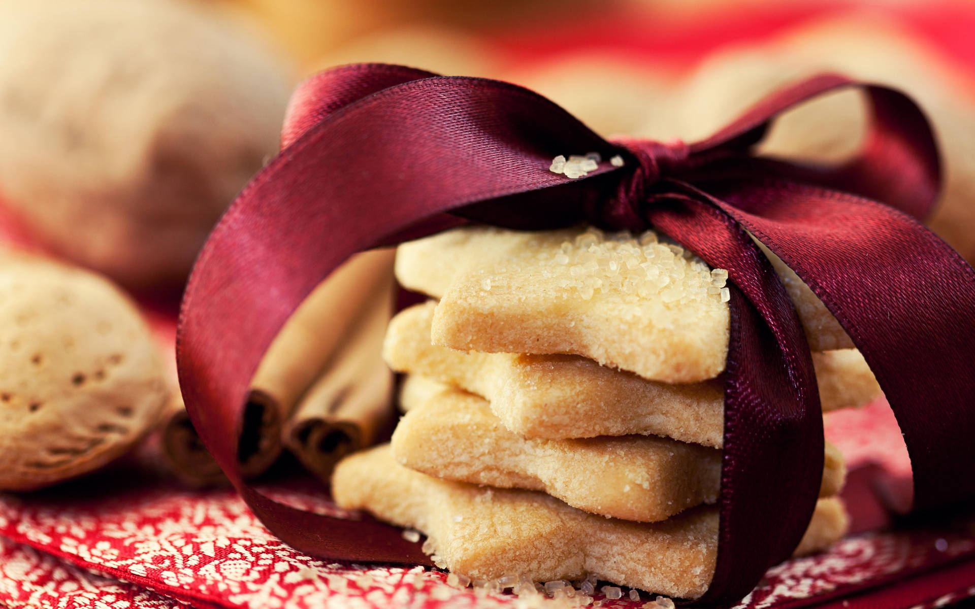
{"type": "Polygon", "coordinates": [[[125,285],[179,285],[277,151],[283,65],[165,0],[0,3],[0,199],[125,285]]]}

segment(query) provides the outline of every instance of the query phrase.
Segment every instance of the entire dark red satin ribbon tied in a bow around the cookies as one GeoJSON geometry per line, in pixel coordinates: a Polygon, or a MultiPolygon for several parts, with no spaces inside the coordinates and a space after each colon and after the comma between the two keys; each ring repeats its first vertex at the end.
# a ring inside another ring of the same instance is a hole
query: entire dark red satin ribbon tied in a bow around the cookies
{"type": "Polygon", "coordinates": [[[427,562],[392,527],[293,510],[243,480],[234,432],[260,357],[298,303],[354,252],[466,220],[652,225],[728,270],[722,530],[700,603],[737,601],[792,552],[822,473],[808,346],[748,233],[812,287],[871,364],[911,452],[917,508],[975,497],[967,369],[975,273],[915,219],[934,204],[939,169],[927,123],[906,96],[827,75],[772,95],[705,141],[612,143],[513,85],[352,65],[302,85],[283,144],[197,261],[177,358],[201,437],[254,513],[298,550],[427,562]],[[859,158],[825,168],[752,156],[776,114],[847,86],[864,87],[874,106],[859,158]],[[559,154],[591,151],[626,163],[575,180],[548,171],[559,154]]]}

